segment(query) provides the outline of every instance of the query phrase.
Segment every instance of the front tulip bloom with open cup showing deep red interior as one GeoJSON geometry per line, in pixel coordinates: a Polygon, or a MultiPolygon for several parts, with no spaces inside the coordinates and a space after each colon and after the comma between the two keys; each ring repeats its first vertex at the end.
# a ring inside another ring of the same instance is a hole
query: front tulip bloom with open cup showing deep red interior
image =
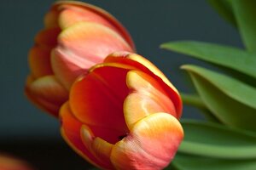
{"type": "Polygon", "coordinates": [[[60,112],[63,138],[102,169],[162,169],[183,139],[177,89],[138,54],[115,52],[90,68],[60,112]]]}

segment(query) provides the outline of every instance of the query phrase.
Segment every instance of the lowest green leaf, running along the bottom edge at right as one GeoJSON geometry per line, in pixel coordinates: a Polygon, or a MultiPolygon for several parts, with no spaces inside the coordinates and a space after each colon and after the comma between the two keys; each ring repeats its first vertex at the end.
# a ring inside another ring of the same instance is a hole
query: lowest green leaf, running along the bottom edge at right
{"type": "MultiPolygon", "coordinates": [[[[220,160],[177,153],[172,167],[177,170],[255,170],[256,160],[220,160]]],[[[169,167],[166,169],[172,170],[169,167]]]]}

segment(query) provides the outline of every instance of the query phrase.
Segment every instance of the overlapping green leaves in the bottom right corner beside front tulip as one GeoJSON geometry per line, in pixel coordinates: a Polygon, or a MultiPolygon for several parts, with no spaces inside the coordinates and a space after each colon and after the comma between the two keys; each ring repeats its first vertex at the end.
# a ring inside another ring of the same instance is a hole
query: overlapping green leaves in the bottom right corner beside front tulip
{"type": "Polygon", "coordinates": [[[166,169],[256,169],[256,134],[212,122],[184,120],[182,124],[185,138],[166,169]]]}

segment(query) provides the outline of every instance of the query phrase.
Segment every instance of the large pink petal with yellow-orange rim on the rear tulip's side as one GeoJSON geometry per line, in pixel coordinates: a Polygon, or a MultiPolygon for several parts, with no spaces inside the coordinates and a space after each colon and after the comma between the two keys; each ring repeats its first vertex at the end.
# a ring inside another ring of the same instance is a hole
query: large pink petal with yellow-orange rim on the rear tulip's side
{"type": "Polygon", "coordinates": [[[116,32],[96,23],[78,23],[61,32],[51,56],[56,77],[69,89],[76,77],[116,50],[131,51],[116,32]]]}

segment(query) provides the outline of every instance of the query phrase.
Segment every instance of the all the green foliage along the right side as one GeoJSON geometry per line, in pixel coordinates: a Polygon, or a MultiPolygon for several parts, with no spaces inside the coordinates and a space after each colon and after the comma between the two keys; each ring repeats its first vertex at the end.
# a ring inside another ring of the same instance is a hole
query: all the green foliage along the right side
{"type": "Polygon", "coordinates": [[[246,49],[195,41],[160,46],[218,66],[218,71],[198,65],[181,67],[197,91],[182,94],[183,103],[203,111],[207,121],[183,121],[185,138],[166,169],[255,170],[256,1],[208,2],[236,26],[246,49]]]}

